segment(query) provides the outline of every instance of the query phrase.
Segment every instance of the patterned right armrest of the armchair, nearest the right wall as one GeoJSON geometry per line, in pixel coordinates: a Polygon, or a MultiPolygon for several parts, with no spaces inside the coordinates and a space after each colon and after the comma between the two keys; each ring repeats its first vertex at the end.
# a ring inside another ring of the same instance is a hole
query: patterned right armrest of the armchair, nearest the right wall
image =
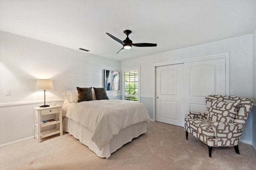
{"type": "Polygon", "coordinates": [[[215,122],[212,129],[214,137],[231,139],[242,135],[244,123],[215,122]]]}

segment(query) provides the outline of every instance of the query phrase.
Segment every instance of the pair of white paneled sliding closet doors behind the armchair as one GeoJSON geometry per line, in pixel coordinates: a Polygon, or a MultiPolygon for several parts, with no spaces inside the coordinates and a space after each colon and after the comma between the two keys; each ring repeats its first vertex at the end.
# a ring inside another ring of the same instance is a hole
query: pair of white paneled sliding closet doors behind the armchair
{"type": "Polygon", "coordinates": [[[156,67],[156,121],[184,126],[189,111],[206,112],[205,97],[225,95],[225,58],[156,67]]]}

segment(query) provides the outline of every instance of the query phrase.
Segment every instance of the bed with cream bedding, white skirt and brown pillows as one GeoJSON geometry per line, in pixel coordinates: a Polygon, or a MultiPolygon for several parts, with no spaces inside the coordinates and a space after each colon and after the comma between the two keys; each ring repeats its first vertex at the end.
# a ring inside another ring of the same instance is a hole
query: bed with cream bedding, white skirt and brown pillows
{"type": "Polygon", "coordinates": [[[87,88],[86,95],[90,91],[90,100],[83,101],[80,88],[63,93],[63,131],[101,158],[109,158],[124,144],[146,133],[150,117],[142,103],[108,100],[104,88],[87,88]]]}

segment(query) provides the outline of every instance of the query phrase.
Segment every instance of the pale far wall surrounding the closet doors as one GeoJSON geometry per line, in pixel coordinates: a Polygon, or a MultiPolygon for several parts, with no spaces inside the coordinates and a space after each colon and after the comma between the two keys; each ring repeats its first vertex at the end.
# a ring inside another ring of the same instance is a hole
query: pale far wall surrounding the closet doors
{"type": "MultiPolygon", "coordinates": [[[[157,47],[156,47],[157,48],[157,47]]],[[[252,98],[252,34],[202,45],[196,45],[165,53],[149,55],[137,59],[121,62],[121,67],[126,68],[140,65],[140,94],[141,102],[145,105],[153,118],[153,92],[154,92],[154,63],[188,59],[192,57],[207,56],[219,53],[230,54],[230,90],[235,90],[235,96],[252,98]],[[146,100],[144,100],[146,99],[146,100]]],[[[248,134],[242,137],[245,141],[252,141],[252,117],[248,120],[246,127],[248,134]]]]}

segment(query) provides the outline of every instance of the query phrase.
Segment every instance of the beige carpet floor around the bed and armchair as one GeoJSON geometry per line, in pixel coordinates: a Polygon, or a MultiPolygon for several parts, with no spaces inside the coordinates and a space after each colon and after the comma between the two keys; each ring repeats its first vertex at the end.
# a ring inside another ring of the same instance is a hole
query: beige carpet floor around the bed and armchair
{"type": "Polygon", "coordinates": [[[182,127],[150,122],[147,133],[133,139],[110,158],[100,158],[68,133],[41,143],[30,140],[0,150],[1,170],[256,170],[251,145],[208,147],[182,127]]]}

